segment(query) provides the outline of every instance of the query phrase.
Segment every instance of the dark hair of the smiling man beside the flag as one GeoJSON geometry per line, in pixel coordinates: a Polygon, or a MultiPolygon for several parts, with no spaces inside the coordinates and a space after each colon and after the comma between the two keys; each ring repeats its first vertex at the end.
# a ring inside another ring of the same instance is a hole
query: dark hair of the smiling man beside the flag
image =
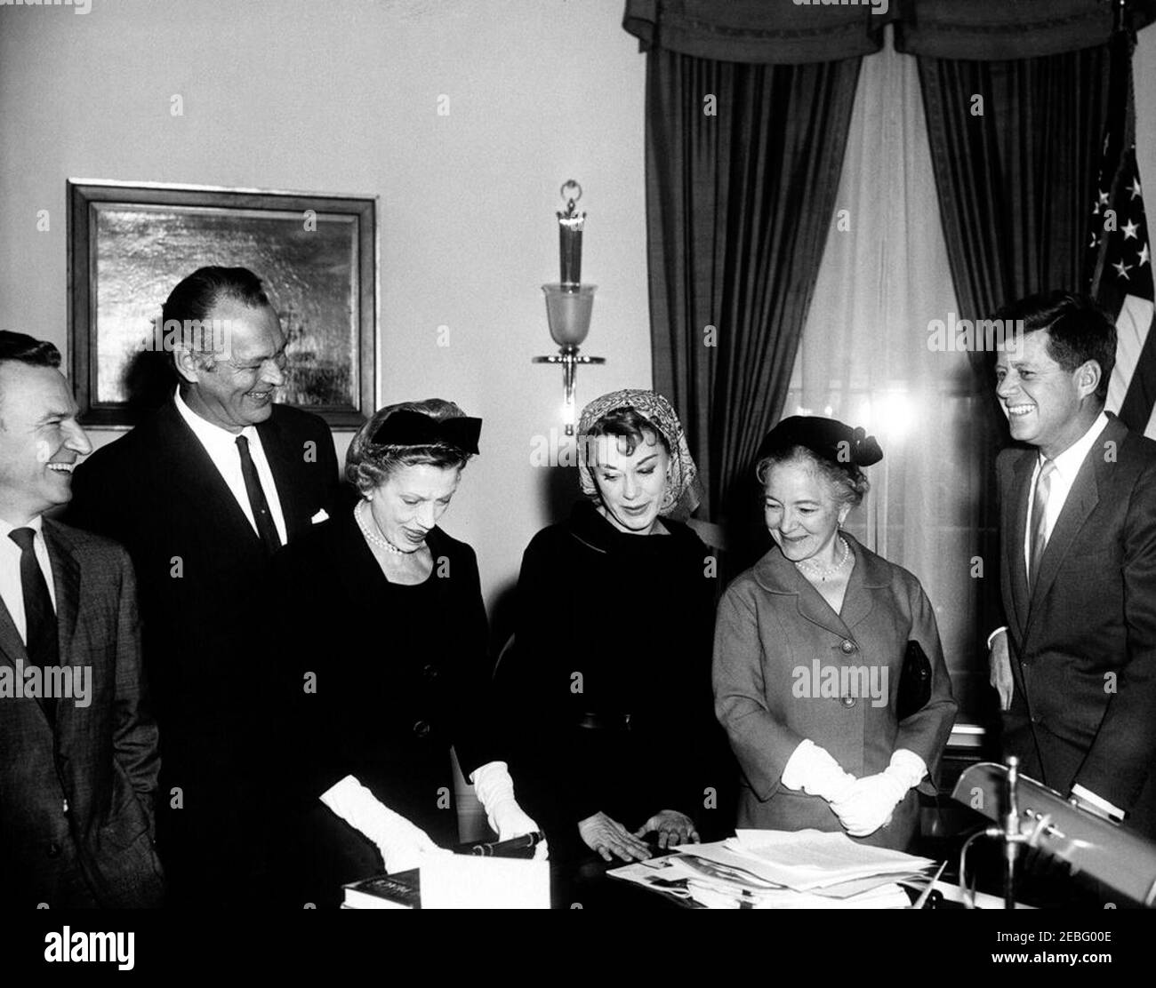
{"type": "Polygon", "coordinates": [[[1024,334],[1046,329],[1047,355],[1068,373],[1095,361],[1099,364],[1096,398],[1101,402],[1107,398],[1116,366],[1116,325],[1094,299],[1070,291],[1031,295],[1005,306],[998,318],[1013,324],[1023,320],[1024,334]]]}

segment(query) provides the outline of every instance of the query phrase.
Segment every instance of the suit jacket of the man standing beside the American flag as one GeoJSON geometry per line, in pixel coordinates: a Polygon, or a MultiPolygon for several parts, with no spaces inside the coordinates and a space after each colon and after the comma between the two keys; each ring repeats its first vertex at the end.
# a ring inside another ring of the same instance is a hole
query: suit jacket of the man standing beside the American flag
{"type": "Polygon", "coordinates": [[[1000,581],[1015,694],[1003,741],[1023,771],[1074,783],[1156,834],[1156,443],[1112,416],[1057,519],[1029,596],[1035,450],[996,460],[1000,581]]]}

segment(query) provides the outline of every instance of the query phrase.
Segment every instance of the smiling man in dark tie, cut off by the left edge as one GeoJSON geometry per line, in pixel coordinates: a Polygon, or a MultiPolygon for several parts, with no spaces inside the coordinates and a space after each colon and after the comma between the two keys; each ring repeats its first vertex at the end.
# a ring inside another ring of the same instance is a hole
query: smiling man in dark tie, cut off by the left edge
{"type": "Polygon", "coordinates": [[[51,343],[0,332],[0,907],[157,906],[133,567],[44,518],[92,447],[51,343]]]}

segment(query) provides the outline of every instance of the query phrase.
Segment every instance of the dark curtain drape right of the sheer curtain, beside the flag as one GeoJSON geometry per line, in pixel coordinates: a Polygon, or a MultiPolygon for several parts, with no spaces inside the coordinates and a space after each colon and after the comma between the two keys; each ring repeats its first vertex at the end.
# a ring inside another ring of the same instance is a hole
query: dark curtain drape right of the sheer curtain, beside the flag
{"type": "MultiPolygon", "coordinates": [[[[1101,139],[1109,112],[1109,44],[1015,61],[919,58],[932,168],[959,318],[985,319],[1052,289],[1087,290],[1087,252],[1101,139]]],[[[984,581],[980,640],[1000,622],[994,459],[1009,441],[995,399],[993,354],[972,354],[984,581]]]]}

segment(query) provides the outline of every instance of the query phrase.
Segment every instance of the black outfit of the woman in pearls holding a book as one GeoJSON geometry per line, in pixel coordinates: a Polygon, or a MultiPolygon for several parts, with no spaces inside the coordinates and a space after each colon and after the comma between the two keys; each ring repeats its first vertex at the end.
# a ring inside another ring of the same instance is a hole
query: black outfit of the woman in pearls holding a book
{"type": "MultiPolygon", "coordinates": [[[[299,908],[340,902],[341,884],[380,870],[377,849],[320,795],[355,775],[442,846],[458,842],[450,746],[468,779],[499,758],[488,710],[486,606],[474,550],[440,528],[427,537],[433,573],[388,582],[349,510],[282,549],[273,594],[279,712],[288,720],[276,812],[295,862],[299,908]],[[305,677],[312,674],[312,689],[305,677]]],[[[281,871],[289,869],[282,868],[281,871]]],[[[280,877],[280,876],[279,876],[280,877]]],[[[296,887],[294,886],[296,882],[296,887]]]]}

